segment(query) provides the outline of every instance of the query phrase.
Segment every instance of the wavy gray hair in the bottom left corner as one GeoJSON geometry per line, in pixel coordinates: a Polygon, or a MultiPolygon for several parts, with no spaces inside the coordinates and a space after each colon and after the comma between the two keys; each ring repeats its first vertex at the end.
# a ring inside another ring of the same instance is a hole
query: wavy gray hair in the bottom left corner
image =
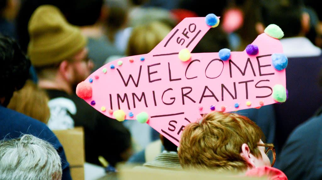
{"type": "Polygon", "coordinates": [[[0,180],[60,180],[61,159],[52,145],[33,135],[0,141],[0,180]]]}

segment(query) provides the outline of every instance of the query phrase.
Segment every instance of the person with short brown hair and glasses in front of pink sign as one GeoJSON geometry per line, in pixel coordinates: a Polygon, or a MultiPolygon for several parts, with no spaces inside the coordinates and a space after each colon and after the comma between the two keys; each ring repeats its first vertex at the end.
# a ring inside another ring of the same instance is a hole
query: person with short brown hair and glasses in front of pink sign
{"type": "Polygon", "coordinates": [[[185,127],[178,151],[179,161],[185,169],[287,180],[282,171],[271,167],[275,162],[274,145],[263,143],[262,138],[265,137],[260,127],[247,117],[214,111],[185,127]],[[268,152],[272,152],[272,162],[268,152]]]}

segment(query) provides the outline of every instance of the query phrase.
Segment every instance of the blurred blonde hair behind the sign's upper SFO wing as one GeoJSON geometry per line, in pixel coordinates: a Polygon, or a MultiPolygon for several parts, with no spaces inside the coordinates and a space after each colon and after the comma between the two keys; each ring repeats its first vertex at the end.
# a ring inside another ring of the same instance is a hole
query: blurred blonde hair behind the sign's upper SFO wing
{"type": "Polygon", "coordinates": [[[149,53],[171,30],[170,26],[158,21],[133,28],[126,54],[133,56],[149,53]]]}

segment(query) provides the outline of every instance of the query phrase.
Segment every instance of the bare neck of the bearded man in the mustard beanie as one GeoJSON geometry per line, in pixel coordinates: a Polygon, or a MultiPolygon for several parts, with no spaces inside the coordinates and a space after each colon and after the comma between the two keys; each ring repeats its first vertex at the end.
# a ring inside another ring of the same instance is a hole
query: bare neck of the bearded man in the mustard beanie
{"type": "Polygon", "coordinates": [[[39,78],[38,85],[43,89],[56,89],[64,91],[67,94],[73,94],[72,86],[69,85],[66,81],[59,81],[57,79],[53,81],[39,78]]]}

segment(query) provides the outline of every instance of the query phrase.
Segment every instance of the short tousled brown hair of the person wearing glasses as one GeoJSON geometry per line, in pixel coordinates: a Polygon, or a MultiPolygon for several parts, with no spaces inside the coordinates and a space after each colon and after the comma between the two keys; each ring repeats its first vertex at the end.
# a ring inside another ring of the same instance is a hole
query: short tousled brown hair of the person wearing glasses
{"type": "Polygon", "coordinates": [[[253,121],[236,113],[215,111],[200,122],[189,124],[182,133],[178,151],[183,168],[243,171],[249,164],[242,158],[247,143],[255,157],[261,157],[257,143],[263,132],[253,121]]]}

